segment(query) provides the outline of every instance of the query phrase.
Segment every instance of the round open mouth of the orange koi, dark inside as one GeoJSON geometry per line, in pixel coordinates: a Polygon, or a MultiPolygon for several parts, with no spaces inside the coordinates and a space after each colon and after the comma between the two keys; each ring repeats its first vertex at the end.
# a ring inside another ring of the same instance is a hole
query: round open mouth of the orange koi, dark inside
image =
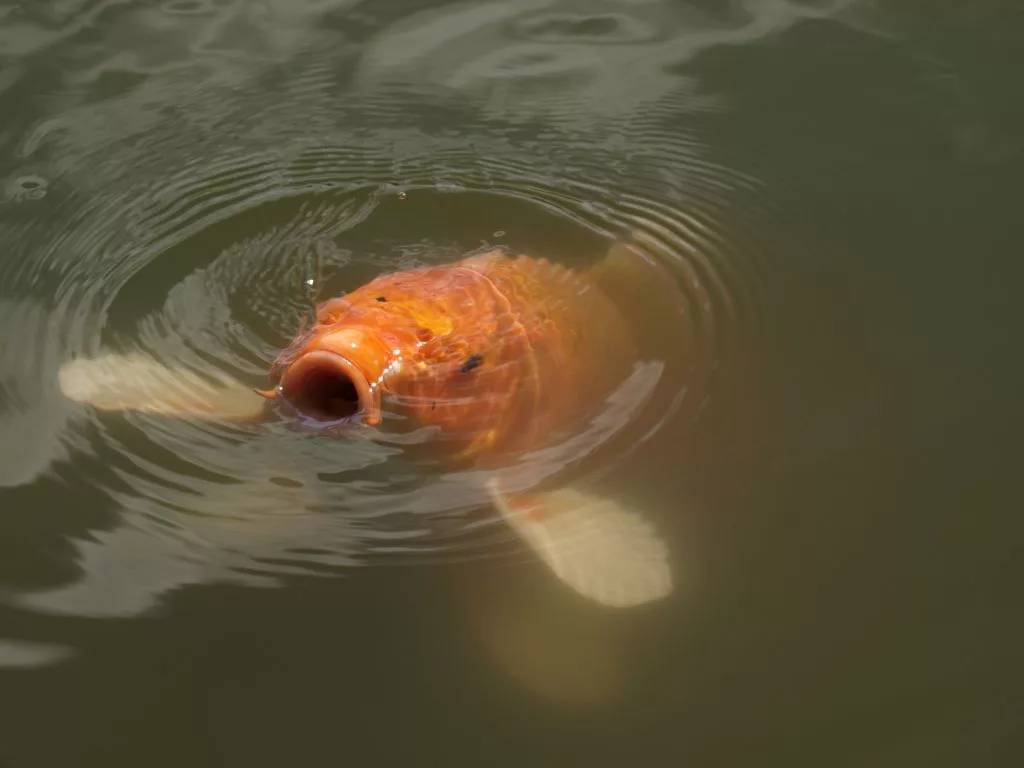
{"type": "Polygon", "coordinates": [[[316,421],[355,416],[371,425],[380,421],[380,408],[362,372],[334,352],[315,350],[296,359],[282,376],[281,395],[316,421]]]}

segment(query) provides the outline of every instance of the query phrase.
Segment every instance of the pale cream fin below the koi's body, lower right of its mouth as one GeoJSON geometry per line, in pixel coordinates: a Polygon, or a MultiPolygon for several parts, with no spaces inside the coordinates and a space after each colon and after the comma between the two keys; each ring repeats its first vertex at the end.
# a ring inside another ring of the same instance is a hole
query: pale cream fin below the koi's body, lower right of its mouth
{"type": "Polygon", "coordinates": [[[487,486],[512,529],[584,597],[630,607],[672,593],[668,547],[636,512],[573,488],[510,498],[497,479],[487,486]]]}

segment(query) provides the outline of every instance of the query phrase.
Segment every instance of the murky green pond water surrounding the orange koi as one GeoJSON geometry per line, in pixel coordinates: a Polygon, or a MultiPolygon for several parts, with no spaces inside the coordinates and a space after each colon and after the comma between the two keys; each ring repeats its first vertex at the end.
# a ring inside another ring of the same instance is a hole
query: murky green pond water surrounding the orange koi
{"type": "Polygon", "coordinates": [[[1010,0],[0,3],[0,765],[1015,764],[1022,71],[1010,0]],[[630,232],[642,608],[400,443],[57,387],[630,232]]]}

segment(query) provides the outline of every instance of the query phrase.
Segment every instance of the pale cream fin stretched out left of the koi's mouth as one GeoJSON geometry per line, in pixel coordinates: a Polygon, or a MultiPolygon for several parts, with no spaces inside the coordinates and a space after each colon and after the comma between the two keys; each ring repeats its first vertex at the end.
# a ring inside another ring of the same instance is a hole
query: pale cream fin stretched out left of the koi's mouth
{"type": "Polygon", "coordinates": [[[66,397],[100,411],[241,421],[258,418],[266,407],[265,398],[242,384],[211,384],[141,354],[74,359],[60,367],[58,381],[66,397]]]}

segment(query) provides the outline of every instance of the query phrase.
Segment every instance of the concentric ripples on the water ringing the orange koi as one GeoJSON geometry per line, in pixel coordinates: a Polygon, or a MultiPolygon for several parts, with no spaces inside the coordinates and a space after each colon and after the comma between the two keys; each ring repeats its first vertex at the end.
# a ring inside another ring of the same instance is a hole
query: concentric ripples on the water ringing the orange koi
{"type": "MultiPolygon", "coordinates": [[[[669,45],[648,22],[616,13],[499,20],[509,45],[570,34],[583,47],[669,45]]],[[[83,575],[23,600],[135,612],[202,581],[524,557],[488,511],[478,472],[423,463],[394,436],[313,435],[274,418],[99,413],[60,398],[61,361],[139,353],[265,386],[315,302],[377,274],[485,245],[583,268],[621,240],[671,278],[684,321],[643,327],[644,356],[620,390],[580,431],[522,462],[529,482],[566,472],[611,482],[617,460],[659,430],[671,425],[685,440],[749,344],[760,273],[731,232],[748,226],[742,206],[759,184],[716,159],[710,136],[725,102],[667,70],[667,54],[652,59],[664,90],[585,127],[587,89],[577,100],[559,91],[556,110],[528,115],[394,79],[372,90],[356,80],[342,93],[332,50],[325,40],[305,54],[310,66],[241,92],[202,82],[189,91],[205,59],[172,68],[157,87],[69,106],[37,137],[49,165],[32,173],[49,179],[46,195],[0,211],[24,257],[4,261],[0,275],[16,296],[5,311],[17,330],[5,322],[5,333],[20,340],[4,346],[5,373],[17,380],[4,382],[2,418],[20,431],[5,430],[3,451],[18,451],[11,434],[48,437],[5,482],[55,473],[109,512],[78,520],[74,495],[62,500],[67,512],[48,524],[77,531],[83,575]],[[93,130],[119,117],[127,140],[93,130]],[[34,228],[33,205],[62,228],[34,228]],[[10,396],[27,389],[32,402],[10,396]]],[[[373,74],[361,70],[361,82],[373,74]]]]}

